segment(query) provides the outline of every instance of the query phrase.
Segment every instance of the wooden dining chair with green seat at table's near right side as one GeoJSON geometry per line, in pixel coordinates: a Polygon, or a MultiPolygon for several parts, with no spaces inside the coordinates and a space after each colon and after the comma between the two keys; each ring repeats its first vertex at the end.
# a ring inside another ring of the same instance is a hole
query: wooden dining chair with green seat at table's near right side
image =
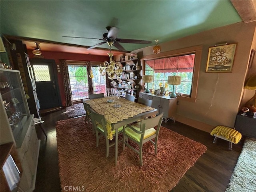
{"type": "Polygon", "coordinates": [[[154,118],[148,118],[145,120],[141,120],[140,126],[134,126],[134,125],[127,125],[124,127],[123,130],[123,150],[125,146],[128,146],[130,149],[134,150],[137,154],[140,155],[140,166],[143,165],[142,162],[142,147],[143,144],[150,141],[155,146],[155,154],[157,155],[157,140],[158,140],[158,134],[159,130],[162,124],[163,114],[154,117],[154,118]],[[155,126],[157,126],[155,130],[155,126]],[[139,150],[136,150],[133,148],[129,143],[128,140],[132,140],[136,144],[139,145],[139,150]],[[152,141],[154,139],[154,141],[152,141]]]}

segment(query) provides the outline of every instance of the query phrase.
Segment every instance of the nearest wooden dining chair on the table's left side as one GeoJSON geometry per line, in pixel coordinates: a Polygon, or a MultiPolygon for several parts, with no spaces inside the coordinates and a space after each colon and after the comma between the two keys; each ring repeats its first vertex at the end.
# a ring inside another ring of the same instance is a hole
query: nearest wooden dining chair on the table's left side
{"type": "MultiPolygon", "coordinates": [[[[104,115],[98,114],[97,112],[95,112],[94,110],[90,109],[90,116],[92,119],[92,126],[95,129],[95,133],[96,133],[96,147],[98,147],[99,145],[99,133],[105,137],[106,140],[106,158],[108,158],[109,155],[109,148],[112,146],[115,146],[115,142],[113,142],[112,144],[109,144],[109,139],[108,139],[108,131],[107,131],[107,122],[106,119],[104,117],[104,115]]],[[[123,127],[119,127],[118,128],[118,134],[122,133],[123,127]]],[[[113,136],[116,134],[116,130],[112,130],[112,134],[113,136]]],[[[121,140],[118,141],[121,142],[121,140]]]]}

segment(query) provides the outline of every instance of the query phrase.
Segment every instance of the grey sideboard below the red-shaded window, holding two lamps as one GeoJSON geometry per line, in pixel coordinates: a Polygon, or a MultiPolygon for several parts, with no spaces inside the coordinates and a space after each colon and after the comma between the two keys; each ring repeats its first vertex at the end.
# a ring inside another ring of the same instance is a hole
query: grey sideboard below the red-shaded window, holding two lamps
{"type": "Polygon", "coordinates": [[[154,95],[152,93],[141,92],[140,97],[153,100],[152,107],[158,109],[158,114],[164,112],[163,118],[167,122],[168,118],[174,120],[177,109],[177,99],[169,96],[154,95]]]}

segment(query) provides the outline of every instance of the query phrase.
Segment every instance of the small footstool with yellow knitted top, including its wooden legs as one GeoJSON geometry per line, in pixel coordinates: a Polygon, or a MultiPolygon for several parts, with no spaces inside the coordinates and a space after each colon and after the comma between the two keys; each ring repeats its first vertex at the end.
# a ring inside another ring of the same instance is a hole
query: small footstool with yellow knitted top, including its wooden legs
{"type": "Polygon", "coordinates": [[[216,143],[218,138],[224,139],[229,142],[229,150],[232,150],[232,143],[237,144],[242,138],[242,134],[233,128],[218,125],[216,126],[211,135],[214,136],[213,143],[216,143]]]}

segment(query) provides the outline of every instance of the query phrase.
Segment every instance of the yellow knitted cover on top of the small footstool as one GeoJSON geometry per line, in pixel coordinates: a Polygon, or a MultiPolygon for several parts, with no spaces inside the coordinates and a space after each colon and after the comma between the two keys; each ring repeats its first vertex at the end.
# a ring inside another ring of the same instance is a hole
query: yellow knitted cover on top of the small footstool
{"type": "Polygon", "coordinates": [[[223,136],[234,144],[237,144],[242,138],[242,134],[237,130],[222,125],[216,126],[212,130],[211,135],[213,136],[214,134],[223,136]]]}

